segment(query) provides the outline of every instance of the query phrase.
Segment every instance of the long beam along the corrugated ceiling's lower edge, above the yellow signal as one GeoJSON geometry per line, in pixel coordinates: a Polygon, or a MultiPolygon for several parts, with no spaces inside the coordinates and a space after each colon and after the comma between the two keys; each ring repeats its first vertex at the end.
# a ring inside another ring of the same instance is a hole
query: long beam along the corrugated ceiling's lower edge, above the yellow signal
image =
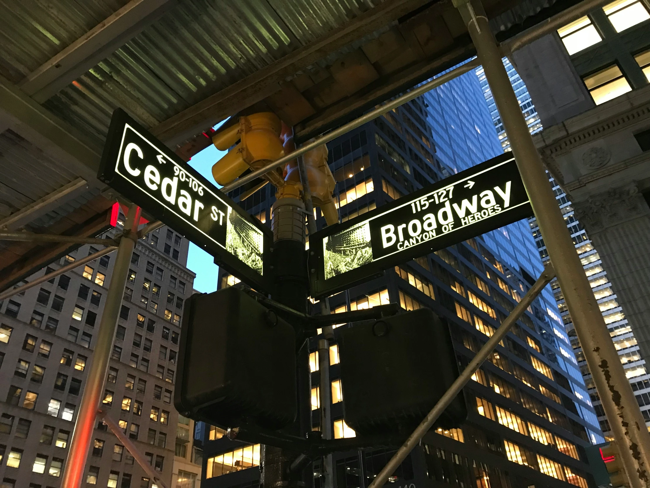
{"type": "Polygon", "coordinates": [[[386,0],[378,7],[371,8],[322,38],[296,49],[255,74],[168,118],[152,128],[151,133],[165,141],[168,146],[187,141],[233,113],[253,103],[261,102],[267,96],[277,92],[285,78],[359,38],[385,27],[426,3],[428,0],[386,0]]]}

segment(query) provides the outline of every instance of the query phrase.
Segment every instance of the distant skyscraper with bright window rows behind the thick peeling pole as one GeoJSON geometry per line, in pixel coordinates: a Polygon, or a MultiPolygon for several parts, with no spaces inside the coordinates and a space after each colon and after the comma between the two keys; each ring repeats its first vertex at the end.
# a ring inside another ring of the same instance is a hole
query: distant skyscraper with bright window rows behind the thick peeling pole
{"type": "MultiPolygon", "coordinates": [[[[517,74],[516,70],[507,58],[504,58],[503,62],[508,71],[508,75],[510,76],[510,82],[512,83],[513,88],[515,88],[521,111],[524,113],[524,116],[527,117],[526,121],[528,122],[530,132],[536,133],[541,131],[541,121],[537,116],[537,111],[532,104],[532,100],[530,100],[530,95],[528,94],[525,83],[521,77],[519,77],[519,74],[517,74]]],[[[499,138],[504,151],[508,151],[510,150],[510,144],[507,142],[508,137],[503,129],[503,124],[501,123],[499,113],[492,98],[491,90],[487,85],[482,67],[476,69],[476,75],[484,92],[493,119],[493,124],[499,132],[499,138]]],[[[585,230],[575,217],[571,201],[568,199],[564,189],[562,189],[550,174],[549,182],[551,183],[555,198],[558,200],[560,210],[562,210],[562,215],[564,215],[564,220],[569,229],[569,233],[571,234],[571,238],[573,239],[573,243],[575,244],[578,256],[582,261],[584,271],[589,278],[593,293],[598,300],[601,312],[603,312],[605,323],[607,324],[612,340],[614,341],[614,346],[616,346],[619,357],[621,358],[621,362],[625,368],[625,373],[630,379],[632,389],[636,392],[636,400],[642,407],[643,418],[645,418],[646,422],[650,423],[650,410],[648,410],[650,409],[650,375],[646,372],[645,359],[641,357],[636,338],[634,338],[632,329],[628,325],[627,319],[625,319],[625,313],[616,301],[616,293],[612,289],[612,284],[607,278],[607,272],[603,269],[603,264],[599,258],[598,251],[593,247],[585,230]],[[643,409],[643,407],[647,407],[648,409],[643,409]]],[[[541,232],[539,232],[537,221],[533,217],[529,219],[528,223],[535,239],[539,256],[544,262],[546,262],[549,259],[549,253],[547,252],[546,246],[541,237],[541,232]]],[[[578,366],[580,366],[580,371],[584,377],[584,383],[586,384],[590,394],[590,400],[598,415],[601,430],[604,432],[606,437],[609,437],[610,425],[605,417],[603,406],[601,405],[600,398],[595,390],[591,373],[586,364],[586,360],[584,359],[584,354],[582,353],[582,348],[580,347],[580,343],[575,334],[575,329],[573,329],[571,316],[569,316],[569,311],[567,310],[557,280],[551,282],[551,288],[554,292],[558,312],[562,318],[564,327],[569,334],[573,353],[575,353],[575,357],[578,360],[578,366]]],[[[555,315],[554,312],[551,312],[550,310],[549,314],[555,315]]]]}

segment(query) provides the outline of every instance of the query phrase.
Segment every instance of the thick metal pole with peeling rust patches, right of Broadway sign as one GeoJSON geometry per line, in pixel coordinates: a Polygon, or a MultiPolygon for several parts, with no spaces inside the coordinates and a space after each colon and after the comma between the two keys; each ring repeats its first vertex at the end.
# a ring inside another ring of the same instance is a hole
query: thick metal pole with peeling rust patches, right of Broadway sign
{"type": "Polygon", "coordinates": [[[551,191],[541,158],[501,61],[480,1],[454,0],[467,25],[492,90],[541,235],[593,376],[632,488],[650,484],[650,435],[603,315],[551,191]],[[461,2],[465,3],[461,3],[461,2]],[[474,13],[476,12],[476,13],[474,13]]]}

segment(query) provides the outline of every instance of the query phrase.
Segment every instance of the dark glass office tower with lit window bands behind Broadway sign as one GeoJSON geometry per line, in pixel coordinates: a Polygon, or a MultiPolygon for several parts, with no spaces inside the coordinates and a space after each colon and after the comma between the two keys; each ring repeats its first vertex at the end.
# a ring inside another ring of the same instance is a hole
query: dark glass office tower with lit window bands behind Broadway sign
{"type": "MultiPolygon", "coordinates": [[[[427,96],[328,144],[342,221],[407,195],[502,152],[476,76],[463,75],[427,96]],[[480,102],[480,103],[479,103],[480,102]]],[[[239,195],[235,190],[233,197],[239,195]]],[[[272,189],[242,202],[270,224],[272,189]]],[[[318,226],[324,219],[318,212],[318,226]]],[[[423,306],[448,320],[458,361],[467,364],[530,288],[542,269],[524,221],[385,271],[330,297],[333,313],[399,303],[423,306]]],[[[220,288],[241,286],[220,271],[220,288]]],[[[467,385],[469,416],[460,429],[431,432],[402,463],[396,485],[592,487],[584,447],[601,431],[550,291],[545,291],[467,385]]],[[[349,324],[335,329],[335,336],[349,324]]],[[[310,344],[312,385],[318,360],[310,344]]],[[[343,419],[339,357],[330,347],[335,437],[356,435],[343,419]]],[[[387,394],[390,394],[389,392],[387,394]]],[[[312,426],[319,429],[319,395],[312,390],[312,426]]],[[[258,446],[229,441],[207,426],[204,487],[259,483],[258,446]]],[[[335,488],[367,487],[393,451],[333,455],[335,488]]],[[[320,487],[315,463],[315,485],[320,487]]]]}

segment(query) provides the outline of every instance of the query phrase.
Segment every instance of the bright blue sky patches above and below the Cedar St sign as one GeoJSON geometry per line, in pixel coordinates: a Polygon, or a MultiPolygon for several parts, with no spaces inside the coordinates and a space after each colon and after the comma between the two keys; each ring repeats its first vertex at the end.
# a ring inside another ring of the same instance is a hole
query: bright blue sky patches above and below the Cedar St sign
{"type": "MultiPolygon", "coordinates": [[[[226,152],[218,150],[211,144],[200,153],[195,154],[190,159],[189,165],[198,170],[211,183],[219,187],[212,177],[212,167],[226,152]]],[[[203,293],[210,293],[216,290],[216,277],[219,267],[214,264],[214,259],[210,254],[191,242],[190,251],[187,256],[187,267],[196,273],[196,279],[194,280],[195,290],[203,293]]]]}

